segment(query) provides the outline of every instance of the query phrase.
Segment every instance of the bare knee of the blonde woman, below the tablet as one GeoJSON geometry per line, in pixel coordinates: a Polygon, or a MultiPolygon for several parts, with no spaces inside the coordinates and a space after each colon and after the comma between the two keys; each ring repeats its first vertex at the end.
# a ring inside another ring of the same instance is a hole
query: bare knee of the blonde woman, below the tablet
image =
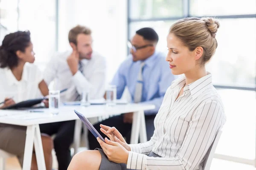
{"type": "Polygon", "coordinates": [[[102,157],[98,150],[85,150],[73,157],[68,170],[99,170],[101,159],[102,157]]]}

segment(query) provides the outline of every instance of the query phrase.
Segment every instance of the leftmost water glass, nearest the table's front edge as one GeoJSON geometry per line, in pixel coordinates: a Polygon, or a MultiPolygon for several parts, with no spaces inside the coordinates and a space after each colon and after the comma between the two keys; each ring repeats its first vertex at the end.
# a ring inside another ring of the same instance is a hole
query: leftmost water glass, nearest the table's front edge
{"type": "Polygon", "coordinates": [[[49,91],[49,112],[51,115],[57,115],[59,113],[60,91],[49,91]]]}

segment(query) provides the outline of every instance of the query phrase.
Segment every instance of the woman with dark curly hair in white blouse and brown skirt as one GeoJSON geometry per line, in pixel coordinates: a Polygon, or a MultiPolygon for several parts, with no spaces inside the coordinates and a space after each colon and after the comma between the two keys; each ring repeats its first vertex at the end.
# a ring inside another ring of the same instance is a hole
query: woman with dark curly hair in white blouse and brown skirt
{"type": "MultiPolygon", "coordinates": [[[[4,37],[0,46],[0,108],[15,102],[48,95],[48,87],[41,72],[32,63],[35,53],[29,31],[17,31],[4,37]]],[[[52,169],[52,139],[41,135],[47,170],[52,169]]],[[[21,166],[26,140],[26,127],[0,124],[0,149],[15,154],[21,166]]],[[[32,170],[37,169],[35,153],[32,156],[32,170]]]]}

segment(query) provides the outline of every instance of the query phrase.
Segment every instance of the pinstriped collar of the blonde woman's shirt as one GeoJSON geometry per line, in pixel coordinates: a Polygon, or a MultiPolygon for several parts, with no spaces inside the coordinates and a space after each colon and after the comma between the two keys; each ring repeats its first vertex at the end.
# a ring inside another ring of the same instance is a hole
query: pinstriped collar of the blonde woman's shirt
{"type": "MultiPolygon", "coordinates": [[[[185,76],[172,82],[171,88],[182,88],[185,85],[185,76]]],[[[189,91],[193,99],[196,99],[207,88],[212,86],[212,74],[207,72],[207,75],[196,80],[195,82],[186,85],[183,91],[189,91]]]]}

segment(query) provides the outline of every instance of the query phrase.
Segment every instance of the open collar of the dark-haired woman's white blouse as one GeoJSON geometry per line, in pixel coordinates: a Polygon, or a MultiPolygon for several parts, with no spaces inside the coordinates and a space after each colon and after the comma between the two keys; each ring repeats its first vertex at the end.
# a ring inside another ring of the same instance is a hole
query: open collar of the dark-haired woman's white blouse
{"type": "Polygon", "coordinates": [[[22,73],[22,77],[21,77],[20,81],[18,81],[16,79],[16,77],[12,74],[12,70],[10,68],[6,67],[6,68],[4,68],[4,71],[6,73],[8,85],[10,85],[10,86],[18,84],[21,81],[27,81],[28,80],[28,72],[27,72],[27,69],[26,69],[26,65],[24,65],[23,73],[22,73]]]}

